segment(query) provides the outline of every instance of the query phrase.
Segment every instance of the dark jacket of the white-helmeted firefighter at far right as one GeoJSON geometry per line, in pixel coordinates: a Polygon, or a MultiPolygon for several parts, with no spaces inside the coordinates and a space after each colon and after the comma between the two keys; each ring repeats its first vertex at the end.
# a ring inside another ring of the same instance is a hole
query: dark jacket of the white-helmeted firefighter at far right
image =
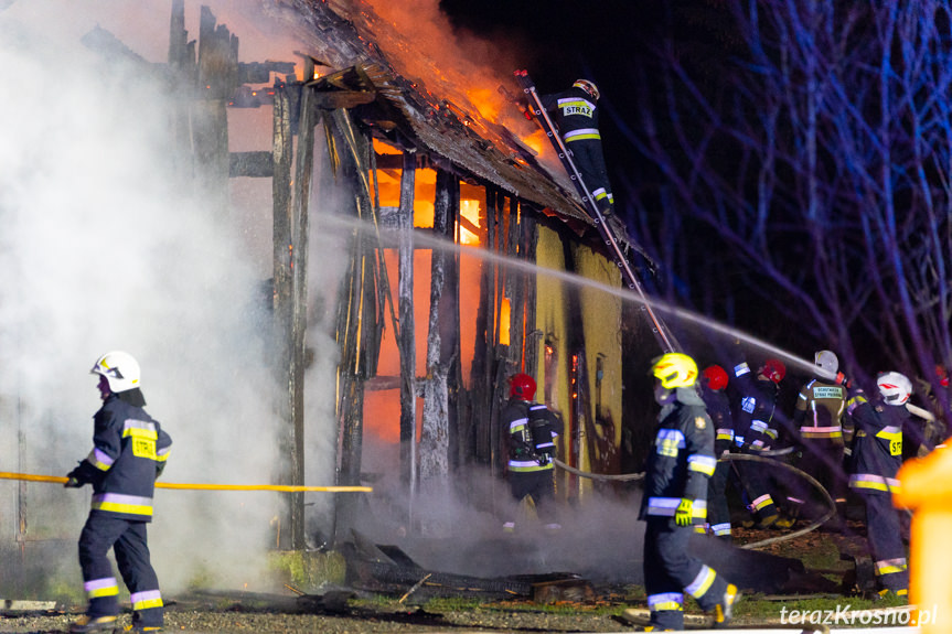
{"type": "Polygon", "coordinates": [[[851,393],[847,410],[856,429],[851,488],[859,493],[892,493],[899,487],[896,473],[902,464],[902,426],[909,412],[901,406],[869,402],[859,389],[851,393]]]}

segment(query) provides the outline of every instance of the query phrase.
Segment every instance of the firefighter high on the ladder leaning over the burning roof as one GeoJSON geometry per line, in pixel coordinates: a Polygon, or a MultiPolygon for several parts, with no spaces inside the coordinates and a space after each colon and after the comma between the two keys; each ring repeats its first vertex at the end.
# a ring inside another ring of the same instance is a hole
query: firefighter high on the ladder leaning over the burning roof
{"type": "Polygon", "coordinates": [[[578,79],[568,90],[541,98],[545,109],[556,114],[555,123],[565,147],[571,152],[571,161],[595,198],[598,211],[608,219],[614,213],[614,198],[598,131],[598,87],[588,79],[578,79]]]}

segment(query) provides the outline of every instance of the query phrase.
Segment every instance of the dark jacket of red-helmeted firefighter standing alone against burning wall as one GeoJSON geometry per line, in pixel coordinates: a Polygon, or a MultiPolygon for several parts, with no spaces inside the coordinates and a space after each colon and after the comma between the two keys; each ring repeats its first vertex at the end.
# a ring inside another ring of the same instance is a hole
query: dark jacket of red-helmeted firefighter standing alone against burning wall
{"type": "Polygon", "coordinates": [[[509,471],[525,473],[555,468],[555,439],[560,425],[543,404],[511,398],[502,411],[506,431],[509,471]]]}

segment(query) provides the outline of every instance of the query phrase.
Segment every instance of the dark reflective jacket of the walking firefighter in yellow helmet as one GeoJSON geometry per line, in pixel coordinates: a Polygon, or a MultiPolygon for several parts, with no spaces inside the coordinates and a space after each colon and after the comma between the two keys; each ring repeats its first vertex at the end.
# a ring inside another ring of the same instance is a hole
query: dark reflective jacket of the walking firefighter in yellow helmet
{"type": "Polygon", "coordinates": [[[693,502],[692,523],[707,516],[707,480],[714,474],[714,423],[693,388],[676,388],[661,408],[644,471],[641,519],[674,517],[682,498],[693,502]]]}

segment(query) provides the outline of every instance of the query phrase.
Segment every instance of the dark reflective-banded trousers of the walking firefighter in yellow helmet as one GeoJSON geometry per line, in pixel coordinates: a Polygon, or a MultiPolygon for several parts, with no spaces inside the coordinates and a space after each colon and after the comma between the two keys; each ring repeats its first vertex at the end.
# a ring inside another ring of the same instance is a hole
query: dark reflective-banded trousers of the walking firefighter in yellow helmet
{"type": "Polygon", "coordinates": [[[644,529],[644,588],[651,625],[684,630],[684,593],[705,612],[724,600],[727,581],[687,552],[693,530],[667,517],[649,516],[644,529]]]}

